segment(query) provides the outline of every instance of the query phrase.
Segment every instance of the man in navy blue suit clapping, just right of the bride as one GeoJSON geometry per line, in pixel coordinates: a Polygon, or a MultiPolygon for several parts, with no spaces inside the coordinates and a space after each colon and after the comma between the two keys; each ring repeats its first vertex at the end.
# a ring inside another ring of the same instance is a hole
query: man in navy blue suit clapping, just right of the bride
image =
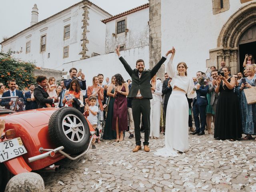
{"type": "MultiPolygon", "coordinates": [[[[198,71],[196,73],[196,78],[200,78],[202,76],[202,72],[198,71]]],[[[208,105],[207,93],[209,91],[208,85],[196,85],[196,98],[193,101],[193,115],[194,122],[196,126],[196,130],[190,134],[195,135],[204,135],[204,129],[206,126],[206,106],[208,105]],[[200,120],[199,120],[200,115],[200,120]],[[201,122],[201,126],[200,126],[201,122]]]]}

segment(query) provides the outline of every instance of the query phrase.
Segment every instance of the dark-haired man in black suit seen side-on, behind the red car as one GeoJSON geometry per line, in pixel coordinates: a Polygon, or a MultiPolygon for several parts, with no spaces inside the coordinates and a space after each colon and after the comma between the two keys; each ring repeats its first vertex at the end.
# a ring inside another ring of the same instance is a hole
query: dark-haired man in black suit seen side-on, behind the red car
{"type": "Polygon", "coordinates": [[[53,104],[54,102],[58,102],[58,98],[49,98],[48,93],[46,92],[47,86],[47,78],[46,76],[39,75],[36,78],[36,82],[38,86],[34,90],[34,97],[36,99],[38,108],[46,107],[46,103],[53,104]]]}

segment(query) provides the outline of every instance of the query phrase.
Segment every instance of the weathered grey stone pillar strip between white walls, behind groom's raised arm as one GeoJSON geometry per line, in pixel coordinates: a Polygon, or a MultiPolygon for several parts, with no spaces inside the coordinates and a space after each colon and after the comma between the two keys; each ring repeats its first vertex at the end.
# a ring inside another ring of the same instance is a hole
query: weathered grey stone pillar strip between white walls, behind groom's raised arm
{"type": "MultiPolygon", "coordinates": [[[[149,0],[149,66],[152,69],[161,59],[161,0],[149,0]]],[[[164,66],[157,73],[164,76],[164,66]]]]}

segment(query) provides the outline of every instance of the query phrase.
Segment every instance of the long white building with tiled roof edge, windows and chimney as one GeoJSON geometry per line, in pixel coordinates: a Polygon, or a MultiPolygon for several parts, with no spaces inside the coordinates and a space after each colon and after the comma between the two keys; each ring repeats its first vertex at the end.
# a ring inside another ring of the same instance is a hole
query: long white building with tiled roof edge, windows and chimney
{"type": "MultiPolygon", "coordinates": [[[[22,51],[15,55],[43,68],[59,69],[64,63],[105,53],[108,12],[83,0],[38,22],[38,8],[32,9],[31,26],[1,42],[2,51],[22,51]]],[[[61,68],[62,69],[62,68],[61,68]]]]}

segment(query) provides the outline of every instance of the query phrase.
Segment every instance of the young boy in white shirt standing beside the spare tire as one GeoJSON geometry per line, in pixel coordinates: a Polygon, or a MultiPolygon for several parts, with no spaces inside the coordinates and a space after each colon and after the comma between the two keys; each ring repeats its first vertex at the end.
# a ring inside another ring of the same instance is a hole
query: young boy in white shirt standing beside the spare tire
{"type": "MultiPolygon", "coordinates": [[[[98,106],[96,106],[96,100],[97,98],[95,96],[90,96],[89,98],[89,104],[90,106],[86,105],[86,110],[89,111],[89,116],[87,117],[88,121],[90,122],[90,124],[92,125],[92,128],[95,128],[97,127],[97,124],[98,124],[98,118],[97,118],[97,114],[98,114],[98,106]]],[[[98,141],[100,140],[99,138],[97,138],[98,141]]],[[[95,140],[96,140],[96,136],[94,135],[94,138],[92,140],[92,148],[95,149],[95,140]]]]}

